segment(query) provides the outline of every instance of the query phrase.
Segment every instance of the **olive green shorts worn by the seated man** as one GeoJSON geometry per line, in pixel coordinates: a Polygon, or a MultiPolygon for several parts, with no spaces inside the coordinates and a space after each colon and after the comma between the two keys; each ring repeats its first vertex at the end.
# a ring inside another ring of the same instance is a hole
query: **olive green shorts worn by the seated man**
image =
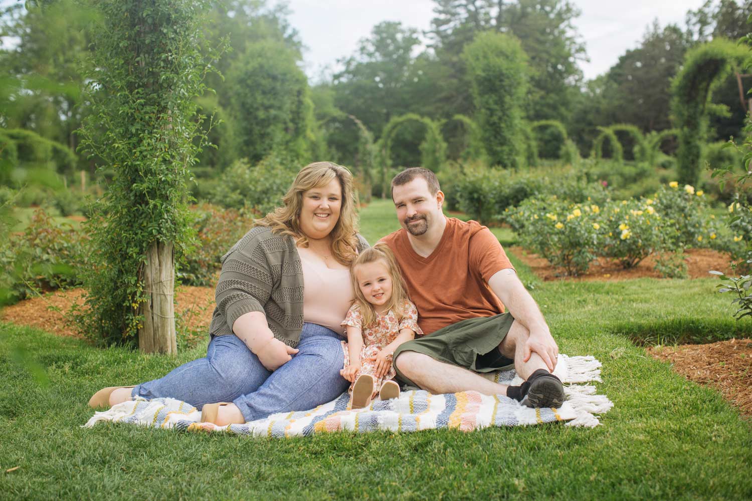
{"type": "MultiPolygon", "coordinates": [[[[510,313],[458,321],[428,336],[402,343],[394,351],[393,360],[396,361],[402,352],[417,352],[476,373],[514,369],[514,360],[506,358],[496,349],[507,336],[513,321],[510,313]]],[[[396,364],[394,369],[401,385],[417,388],[396,364]]]]}

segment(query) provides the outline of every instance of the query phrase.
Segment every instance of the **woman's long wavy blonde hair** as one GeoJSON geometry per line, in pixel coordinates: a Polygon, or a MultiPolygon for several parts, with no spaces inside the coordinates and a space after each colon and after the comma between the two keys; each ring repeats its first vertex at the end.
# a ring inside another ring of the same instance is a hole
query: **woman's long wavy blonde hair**
{"type": "Polygon", "coordinates": [[[342,264],[350,264],[357,255],[357,213],[353,189],[353,175],[347,168],[331,161],[314,161],[300,170],[293,185],[282,198],[284,205],[277,207],[261,219],[254,219],[257,226],[268,226],[276,234],[290,235],[296,246],[308,247],[308,237],[300,228],[300,211],[303,192],[339,181],[342,189],[342,207],[332,232],[332,255],[342,264]]]}

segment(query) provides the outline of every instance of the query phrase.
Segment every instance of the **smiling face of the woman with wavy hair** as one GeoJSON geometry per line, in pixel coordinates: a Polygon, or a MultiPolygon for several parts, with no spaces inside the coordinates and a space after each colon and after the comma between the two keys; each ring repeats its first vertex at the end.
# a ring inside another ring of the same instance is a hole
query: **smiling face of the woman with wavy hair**
{"type": "Polygon", "coordinates": [[[339,220],[342,209],[342,187],[338,179],[325,186],[303,192],[300,229],[306,237],[320,240],[329,236],[339,220]]]}

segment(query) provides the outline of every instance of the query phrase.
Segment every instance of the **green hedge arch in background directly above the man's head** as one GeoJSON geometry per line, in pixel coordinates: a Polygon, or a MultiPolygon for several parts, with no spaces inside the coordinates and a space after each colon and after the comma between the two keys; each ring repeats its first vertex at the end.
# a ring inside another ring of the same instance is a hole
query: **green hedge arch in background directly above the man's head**
{"type": "Polygon", "coordinates": [[[381,131],[381,139],[378,140],[378,150],[381,154],[381,197],[387,198],[389,192],[390,180],[387,179],[387,172],[392,167],[392,140],[399,128],[408,122],[422,123],[426,128],[426,135],[423,142],[420,143],[420,158],[423,167],[431,171],[438,171],[441,165],[446,161],[447,143],[441,135],[441,124],[434,122],[426,116],[420,116],[416,113],[405,113],[405,115],[396,116],[384,125],[381,131]]]}

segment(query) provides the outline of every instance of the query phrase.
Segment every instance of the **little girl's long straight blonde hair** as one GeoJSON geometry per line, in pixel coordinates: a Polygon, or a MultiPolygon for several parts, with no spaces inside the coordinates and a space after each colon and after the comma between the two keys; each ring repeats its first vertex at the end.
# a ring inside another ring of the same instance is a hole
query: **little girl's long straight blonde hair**
{"type": "Polygon", "coordinates": [[[390,309],[397,317],[397,321],[402,320],[405,315],[405,301],[409,300],[408,288],[405,285],[405,279],[402,278],[402,273],[399,271],[399,264],[394,257],[392,249],[387,246],[386,243],[380,242],[364,249],[355,261],[353,261],[350,273],[350,279],[353,282],[353,289],[355,290],[355,303],[360,307],[360,312],[363,315],[363,327],[371,327],[376,323],[376,312],[371,303],[368,303],[360,290],[360,285],[357,278],[357,267],[362,264],[372,263],[374,261],[384,261],[387,264],[387,270],[389,276],[392,278],[392,297],[387,301],[387,309],[390,309]]]}

